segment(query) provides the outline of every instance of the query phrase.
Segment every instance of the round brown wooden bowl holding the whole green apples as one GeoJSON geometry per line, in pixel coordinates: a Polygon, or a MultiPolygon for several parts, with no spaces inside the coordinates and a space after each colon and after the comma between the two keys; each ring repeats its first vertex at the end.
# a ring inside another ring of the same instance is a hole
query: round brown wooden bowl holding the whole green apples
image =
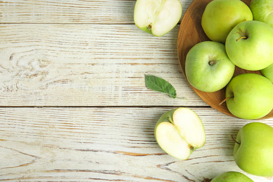
{"type": "MultiPolygon", "coordinates": [[[[186,79],[187,77],[185,72],[185,61],[188,52],[198,42],[210,40],[203,31],[203,28],[201,26],[201,19],[206,5],[211,1],[212,0],[193,0],[191,5],[188,7],[186,13],[184,14],[178,30],[177,54],[181,69],[186,79]]],[[[250,4],[250,0],[243,0],[243,2],[246,3],[248,6],[250,4]]],[[[242,73],[260,74],[259,71],[249,71],[238,67],[235,68],[234,76],[242,73]]],[[[213,93],[202,92],[194,88],[192,85],[191,87],[193,88],[195,93],[212,108],[224,114],[236,117],[233,114],[231,114],[231,112],[228,110],[228,107],[226,107],[225,102],[219,105],[219,103],[223,101],[225,98],[225,87],[213,93]]],[[[268,118],[273,118],[273,110],[261,119],[268,118]]]]}

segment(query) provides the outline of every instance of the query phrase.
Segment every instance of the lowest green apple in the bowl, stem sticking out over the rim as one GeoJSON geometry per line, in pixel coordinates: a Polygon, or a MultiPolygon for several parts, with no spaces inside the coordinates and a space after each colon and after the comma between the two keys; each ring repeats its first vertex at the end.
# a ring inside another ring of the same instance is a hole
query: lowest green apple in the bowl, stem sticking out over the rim
{"type": "Polygon", "coordinates": [[[226,105],[242,119],[259,119],[273,108],[273,84],[255,73],[240,74],[226,86],[226,105]]]}

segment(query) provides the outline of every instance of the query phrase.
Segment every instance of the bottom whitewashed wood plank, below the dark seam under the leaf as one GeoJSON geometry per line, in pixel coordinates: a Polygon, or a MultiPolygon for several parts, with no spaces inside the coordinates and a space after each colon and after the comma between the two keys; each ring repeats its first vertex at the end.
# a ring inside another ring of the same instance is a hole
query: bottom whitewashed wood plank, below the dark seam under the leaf
{"type": "MultiPolygon", "coordinates": [[[[231,134],[250,121],[193,108],[206,144],[179,161],[154,139],[156,121],[170,109],[0,108],[0,180],[201,182],[228,170],[242,172],[232,156],[231,134]]],[[[272,119],[257,122],[273,126],[272,119]]]]}

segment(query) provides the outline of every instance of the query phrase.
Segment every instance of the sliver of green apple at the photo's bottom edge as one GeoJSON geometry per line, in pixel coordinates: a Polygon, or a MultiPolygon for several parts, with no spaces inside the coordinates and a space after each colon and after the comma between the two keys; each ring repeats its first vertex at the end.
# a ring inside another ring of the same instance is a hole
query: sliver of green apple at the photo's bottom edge
{"type": "Polygon", "coordinates": [[[236,171],[228,171],[214,177],[211,182],[254,182],[248,176],[236,171]]]}

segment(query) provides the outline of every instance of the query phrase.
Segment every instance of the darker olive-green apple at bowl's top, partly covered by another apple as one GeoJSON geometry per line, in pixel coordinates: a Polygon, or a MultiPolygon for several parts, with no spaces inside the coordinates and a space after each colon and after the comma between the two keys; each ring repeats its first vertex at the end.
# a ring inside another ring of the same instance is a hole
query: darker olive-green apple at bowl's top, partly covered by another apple
{"type": "Polygon", "coordinates": [[[233,27],[253,20],[251,10],[240,0],[213,0],[205,8],[202,27],[212,41],[225,42],[233,27]]]}

